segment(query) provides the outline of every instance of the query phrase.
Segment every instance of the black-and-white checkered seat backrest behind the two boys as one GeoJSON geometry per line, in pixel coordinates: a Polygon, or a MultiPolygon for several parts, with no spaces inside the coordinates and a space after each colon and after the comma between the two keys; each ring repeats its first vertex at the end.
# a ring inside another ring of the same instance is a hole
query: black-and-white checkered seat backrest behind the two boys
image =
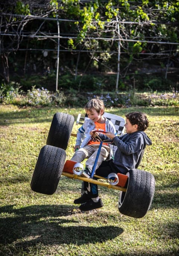
{"type": "MultiPolygon", "coordinates": [[[[125,119],[123,117],[120,117],[119,115],[110,114],[107,112],[104,112],[104,117],[106,117],[108,120],[110,120],[114,127],[116,128],[117,135],[121,135],[125,131],[125,119]]],[[[78,118],[76,120],[76,124],[83,124],[84,120],[88,118],[87,115],[85,117],[81,117],[81,114],[78,114],[78,118]]]]}

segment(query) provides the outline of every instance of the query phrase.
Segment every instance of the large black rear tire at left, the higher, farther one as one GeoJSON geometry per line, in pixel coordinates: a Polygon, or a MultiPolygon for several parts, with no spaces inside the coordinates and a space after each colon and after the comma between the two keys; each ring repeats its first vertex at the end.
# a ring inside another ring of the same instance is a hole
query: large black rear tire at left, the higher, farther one
{"type": "Polygon", "coordinates": [[[47,137],[47,145],[66,150],[75,118],[65,113],[56,113],[53,116],[47,137]]]}

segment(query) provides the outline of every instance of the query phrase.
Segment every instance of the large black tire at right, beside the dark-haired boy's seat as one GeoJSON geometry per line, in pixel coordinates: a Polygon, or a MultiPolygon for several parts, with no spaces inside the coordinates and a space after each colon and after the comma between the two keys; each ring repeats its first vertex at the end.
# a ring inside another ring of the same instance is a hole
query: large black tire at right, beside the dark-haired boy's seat
{"type": "Polygon", "coordinates": [[[123,215],[142,218],[149,210],[154,192],[155,179],[150,172],[131,169],[126,192],[120,191],[118,209],[123,215]]]}

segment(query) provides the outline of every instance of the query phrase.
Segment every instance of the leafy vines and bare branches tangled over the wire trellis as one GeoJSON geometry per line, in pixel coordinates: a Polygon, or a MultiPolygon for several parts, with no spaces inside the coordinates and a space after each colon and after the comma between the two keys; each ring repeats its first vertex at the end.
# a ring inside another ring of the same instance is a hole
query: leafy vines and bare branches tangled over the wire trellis
{"type": "MultiPolygon", "coordinates": [[[[10,3],[1,4],[0,15],[1,60],[6,81],[9,81],[9,53],[17,51],[26,39],[29,39],[29,48],[35,43],[41,49],[45,40],[57,51],[60,38],[60,51],[81,52],[83,62],[88,54],[86,69],[93,65],[96,69],[103,66],[116,70],[118,63],[118,75],[120,72],[123,77],[134,60],[166,58],[178,51],[179,0],[82,3],[79,0],[46,0],[43,4],[42,1],[26,0],[10,3]]],[[[79,63],[79,58],[73,57],[79,63]]]]}

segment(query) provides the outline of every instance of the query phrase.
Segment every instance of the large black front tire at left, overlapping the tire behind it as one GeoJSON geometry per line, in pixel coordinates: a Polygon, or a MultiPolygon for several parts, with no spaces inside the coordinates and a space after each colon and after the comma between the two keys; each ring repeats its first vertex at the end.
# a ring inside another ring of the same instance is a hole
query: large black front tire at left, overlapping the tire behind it
{"type": "Polygon", "coordinates": [[[31,180],[31,189],[52,195],[58,186],[65,164],[66,152],[62,148],[45,145],[41,148],[31,180]]]}

